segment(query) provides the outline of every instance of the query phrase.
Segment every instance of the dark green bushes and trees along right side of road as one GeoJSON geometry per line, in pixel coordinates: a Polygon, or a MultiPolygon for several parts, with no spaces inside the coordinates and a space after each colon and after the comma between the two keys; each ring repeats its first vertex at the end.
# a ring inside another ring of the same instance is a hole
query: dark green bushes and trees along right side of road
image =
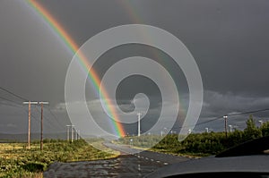
{"type": "MultiPolygon", "coordinates": [[[[204,132],[191,133],[187,139],[178,141],[178,134],[169,134],[161,142],[156,144],[152,149],[169,152],[174,154],[188,155],[215,155],[221,151],[239,145],[247,140],[269,136],[269,122],[263,123],[260,127],[256,123],[252,115],[249,115],[247,120],[247,128],[243,131],[235,130],[228,133],[226,138],[225,132],[204,132]]],[[[146,147],[148,141],[156,141],[157,136],[146,136],[147,139],[133,138],[134,146],[146,147]]],[[[123,143],[130,144],[128,138],[120,140],[123,143]]]]}

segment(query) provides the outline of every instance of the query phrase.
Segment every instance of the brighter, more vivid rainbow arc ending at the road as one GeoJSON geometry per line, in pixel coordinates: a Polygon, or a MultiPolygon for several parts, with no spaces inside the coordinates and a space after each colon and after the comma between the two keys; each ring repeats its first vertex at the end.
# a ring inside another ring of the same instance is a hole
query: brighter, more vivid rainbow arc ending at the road
{"type": "MultiPolygon", "coordinates": [[[[100,97],[105,101],[105,104],[107,106],[107,110],[109,114],[113,117],[114,121],[111,120],[113,124],[113,129],[116,132],[117,136],[123,137],[125,136],[125,130],[123,128],[123,125],[119,123],[118,116],[115,108],[111,104],[108,97],[108,93],[106,89],[102,88],[100,86],[100,78],[97,74],[97,72],[92,69],[87,60],[87,57],[82,54],[82,52],[78,51],[79,47],[74,42],[74,39],[70,37],[70,35],[65,31],[63,26],[56,21],[56,19],[48,12],[47,9],[45,9],[41,4],[36,2],[35,0],[27,0],[27,3],[30,4],[30,6],[42,17],[44,21],[47,22],[48,26],[56,32],[56,35],[64,42],[65,46],[72,52],[74,55],[75,53],[78,53],[77,56],[79,58],[79,63],[82,65],[82,68],[85,70],[85,72],[88,73],[88,77],[91,80],[91,83],[93,84],[94,89],[98,92],[100,91],[100,97]]],[[[110,120],[110,119],[109,119],[110,120]]]]}

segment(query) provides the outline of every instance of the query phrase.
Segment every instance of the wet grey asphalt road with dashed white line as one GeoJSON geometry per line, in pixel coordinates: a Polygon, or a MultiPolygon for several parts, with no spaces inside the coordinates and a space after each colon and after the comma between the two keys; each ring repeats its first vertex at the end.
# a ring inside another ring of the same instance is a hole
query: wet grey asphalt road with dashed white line
{"type": "Polygon", "coordinates": [[[187,157],[176,157],[151,151],[104,143],[121,155],[106,160],[54,163],[48,167],[44,177],[143,177],[161,166],[186,161],[187,157]],[[139,153],[140,152],[140,153],[139,153]],[[130,155],[130,153],[132,153],[130,155]]]}

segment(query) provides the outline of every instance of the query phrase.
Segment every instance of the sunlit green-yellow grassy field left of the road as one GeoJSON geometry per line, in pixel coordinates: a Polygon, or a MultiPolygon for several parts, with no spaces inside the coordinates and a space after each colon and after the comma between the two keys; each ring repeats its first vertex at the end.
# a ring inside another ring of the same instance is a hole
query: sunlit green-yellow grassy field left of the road
{"type": "MultiPolygon", "coordinates": [[[[100,140],[96,141],[102,147],[100,140]]],[[[65,140],[44,140],[44,149],[39,143],[0,143],[0,177],[42,177],[42,172],[55,161],[72,162],[117,157],[117,153],[102,152],[84,140],[73,143],[65,140]]]]}

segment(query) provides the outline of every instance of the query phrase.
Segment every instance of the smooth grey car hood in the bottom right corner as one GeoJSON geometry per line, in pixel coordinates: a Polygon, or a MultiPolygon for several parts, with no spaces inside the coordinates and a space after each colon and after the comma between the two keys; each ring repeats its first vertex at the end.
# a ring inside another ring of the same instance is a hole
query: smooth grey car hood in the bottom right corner
{"type": "Polygon", "coordinates": [[[167,177],[180,174],[204,173],[266,173],[269,174],[269,156],[204,157],[166,165],[145,177],[167,177]]]}

